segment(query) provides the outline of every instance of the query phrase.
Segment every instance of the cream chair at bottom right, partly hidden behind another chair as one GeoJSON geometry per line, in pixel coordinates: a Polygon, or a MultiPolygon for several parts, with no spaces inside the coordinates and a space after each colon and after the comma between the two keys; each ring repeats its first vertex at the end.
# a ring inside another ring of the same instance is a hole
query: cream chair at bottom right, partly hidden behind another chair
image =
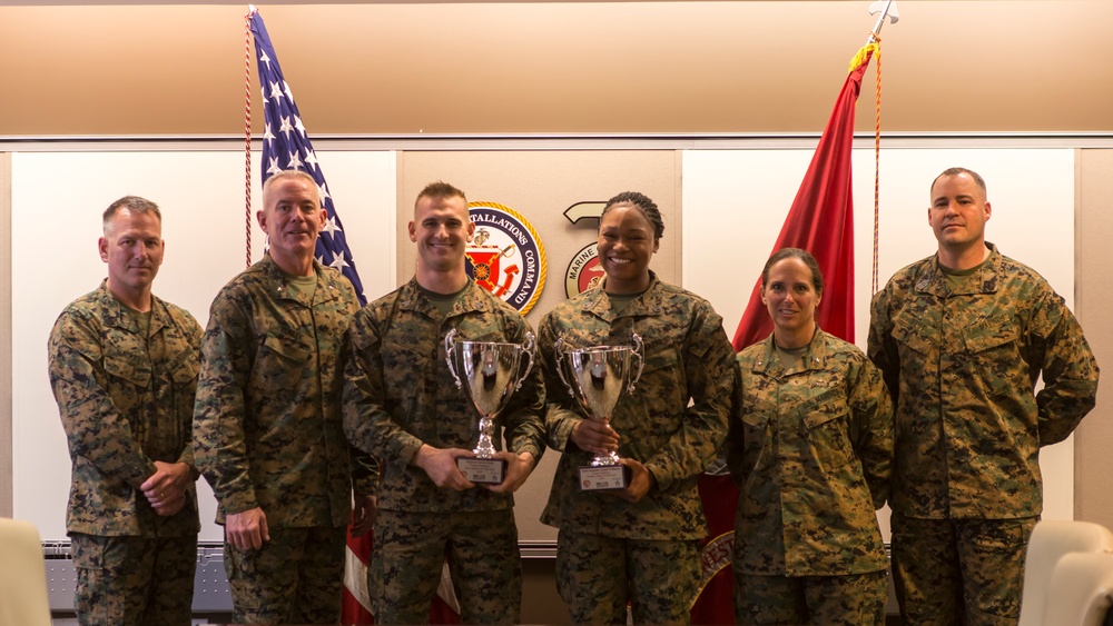
{"type": "MultiPolygon", "coordinates": [[[[1113,552],[1113,531],[1100,524],[1053,520],[1036,524],[1024,558],[1024,595],[1021,598],[1020,626],[1045,624],[1044,615],[1052,574],[1064,555],[1104,552],[1113,552]]],[[[1067,623],[1056,620],[1054,624],[1067,623]]]]}

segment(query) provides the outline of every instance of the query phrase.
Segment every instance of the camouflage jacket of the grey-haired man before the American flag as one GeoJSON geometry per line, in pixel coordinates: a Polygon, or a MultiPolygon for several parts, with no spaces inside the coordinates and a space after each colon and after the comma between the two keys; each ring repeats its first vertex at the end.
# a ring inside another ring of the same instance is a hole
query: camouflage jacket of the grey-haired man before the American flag
{"type": "MultiPolygon", "coordinates": [[[[314,262],[309,301],[269,256],[217,295],[205,331],[194,419],[197,467],[219,508],[260,507],[272,528],[339,527],[353,466],[341,426],[344,332],[359,308],[339,272],[314,262]]],[[[356,481],[372,494],[373,480],[356,481]]]]}

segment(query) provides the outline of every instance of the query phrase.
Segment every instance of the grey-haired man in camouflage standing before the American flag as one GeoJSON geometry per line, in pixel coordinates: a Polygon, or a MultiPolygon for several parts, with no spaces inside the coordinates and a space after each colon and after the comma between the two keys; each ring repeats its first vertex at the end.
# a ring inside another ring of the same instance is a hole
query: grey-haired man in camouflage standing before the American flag
{"type": "Polygon", "coordinates": [[[355,533],[374,514],[374,475],[341,425],[344,332],[359,305],[313,258],[318,193],[305,172],[267,180],[269,252],[220,290],[205,331],[194,445],[239,623],[337,623],[353,485],[355,533]]]}

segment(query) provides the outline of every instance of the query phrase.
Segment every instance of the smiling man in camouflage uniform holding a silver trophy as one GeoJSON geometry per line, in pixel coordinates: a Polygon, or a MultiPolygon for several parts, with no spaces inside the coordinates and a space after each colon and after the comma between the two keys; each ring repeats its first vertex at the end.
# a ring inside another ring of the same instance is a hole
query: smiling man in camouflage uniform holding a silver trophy
{"type": "Polygon", "coordinates": [[[521,615],[512,494],[544,451],[544,387],[525,319],[465,271],[474,231],[463,191],[426,186],[416,276],[348,330],[344,429],[382,461],[367,574],[380,624],[426,623],[445,559],[464,623],[521,615]]]}

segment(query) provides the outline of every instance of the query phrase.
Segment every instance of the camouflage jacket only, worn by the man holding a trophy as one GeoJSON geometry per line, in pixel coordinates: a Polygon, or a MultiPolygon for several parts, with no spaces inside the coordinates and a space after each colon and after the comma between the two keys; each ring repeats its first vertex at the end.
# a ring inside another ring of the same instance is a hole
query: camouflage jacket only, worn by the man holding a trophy
{"type": "MultiPolygon", "coordinates": [[[[362,450],[382,460],[378,508],[411,513],[499,510],[509,494],[475,488],[440,489],[410,461],[422,444],[473,449],[479,419],[467,393],[456,387],[445,361],[444,336],[523,344],[529,324],[516,310],[469,281],[442,320],[412,279],[367,305],[352,320],[353,358],[344,377],[344,429],[362,450]]],[[[495,418],[495,447],[515,454],[544,453],[544,388],[534,367],[495,418]],[[500,431],[502,435],[500,436],[500,431]]]]}

